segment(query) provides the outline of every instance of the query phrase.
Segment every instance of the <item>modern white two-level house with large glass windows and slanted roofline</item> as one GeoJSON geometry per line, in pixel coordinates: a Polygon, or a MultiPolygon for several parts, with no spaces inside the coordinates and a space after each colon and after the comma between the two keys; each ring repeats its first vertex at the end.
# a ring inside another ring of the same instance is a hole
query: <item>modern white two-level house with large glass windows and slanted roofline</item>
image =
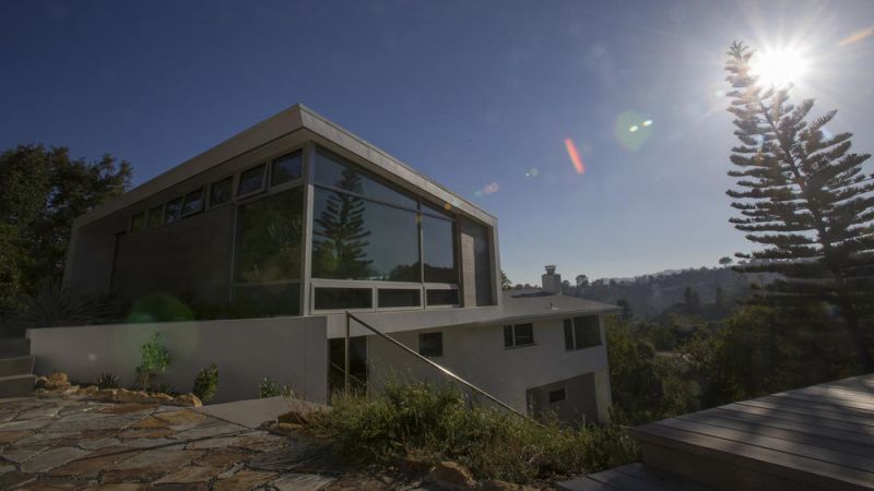
{"type": "MultiPolygon", "coordinates": [[[[554,267],[542,288],[501,291],[497,238],[494,216],[298,105],[79,217],[67,282],[126,299],[130,319],[28,337],[37,370],[130,383],[160,331],[179,390],[215,361],[218,400],[271,376],[327,402],[349,311],[520,411],[606,420],[615,307],[563,296],[554,267]]],[[[440,376],[351,330],[350,375],[368,390],[440,376]]]]}

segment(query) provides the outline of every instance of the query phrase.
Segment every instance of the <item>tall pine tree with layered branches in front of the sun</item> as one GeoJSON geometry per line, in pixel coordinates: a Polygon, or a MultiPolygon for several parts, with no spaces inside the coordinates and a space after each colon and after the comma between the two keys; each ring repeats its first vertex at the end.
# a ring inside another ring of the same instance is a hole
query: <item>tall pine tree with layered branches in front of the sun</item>
{"type": "Polygon", "coordinates": [[[731,219],[764,248],[737,266],[777,274],[752,303],[782,309],[834,306],[867,371],[866,331],[874,313],[874,175],[870,155],[850,151],[850,133],[825,130],[836,111],[810,117],[813,99],[789,103],[789,87],[760,86],[742,43],[728,52],[729,111],[741,145],[732,148],[737,188],[728,191],[741,216],[731,219]]]}

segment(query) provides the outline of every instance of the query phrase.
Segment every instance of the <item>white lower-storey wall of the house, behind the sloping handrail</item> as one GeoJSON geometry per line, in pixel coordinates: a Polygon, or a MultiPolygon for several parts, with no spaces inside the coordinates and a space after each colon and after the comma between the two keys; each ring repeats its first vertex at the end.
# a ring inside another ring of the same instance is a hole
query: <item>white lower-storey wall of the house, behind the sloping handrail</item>
{"type": "MultiPolygon", "coordinates": [[[[522,412],[528,409],[525,392],[529,388],[602,372],[595,375],[594,405],[599,419],[606,420],[611,404],[610,382],[605,378],[606,350],[604,346],[597,346],[567,351],[562,319],[534,322],[535,344],[511,349],[504,348],[501,325],[402,332],[393,333],[392,337],[418,351],[418,334],[435,331],[444,333],[444,356],[433,358],[435,362],[522,412]]],[[[368,378],[375,383],[375,387],[391,379],[447,380],[433,367],[375,336],[368,337],[367,357],[368,378]]]]}

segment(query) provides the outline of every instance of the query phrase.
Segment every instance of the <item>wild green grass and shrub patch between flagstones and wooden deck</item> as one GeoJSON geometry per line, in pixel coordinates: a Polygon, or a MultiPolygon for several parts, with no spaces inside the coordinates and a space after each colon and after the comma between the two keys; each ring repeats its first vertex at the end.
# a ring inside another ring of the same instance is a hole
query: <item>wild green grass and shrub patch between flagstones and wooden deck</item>
{"type": "Polygon", "coordinates": [[[308,424],[362,464],[454,460],[479,479],[519,483],[598,471],[638,457],[621,426],[541,426],[473,402],[448,384],[391,384],[370,399],[335,396],[332,410],[308,424]]]}

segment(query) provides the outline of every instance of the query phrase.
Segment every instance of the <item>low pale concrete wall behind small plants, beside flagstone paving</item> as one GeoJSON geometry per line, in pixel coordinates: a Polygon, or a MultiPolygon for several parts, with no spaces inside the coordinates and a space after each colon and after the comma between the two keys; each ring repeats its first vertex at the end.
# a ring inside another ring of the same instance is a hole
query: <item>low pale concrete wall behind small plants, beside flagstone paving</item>
{"type": "Polygon", "coordinates": [[[158,383],[177,391],[190,391],[198,371],[215,362],[215,403],[258,397],[264,376],[291,385],[307,400],[327,402],[328,344],[321,316],[51,327],[28,330],[27,337],[36,373],[60,370],[73,381],[95,382],[101,373],[113,372],[122,386],[132,386],[140,346],[155,332],[163,333],[172,356],[158,383]]]}

